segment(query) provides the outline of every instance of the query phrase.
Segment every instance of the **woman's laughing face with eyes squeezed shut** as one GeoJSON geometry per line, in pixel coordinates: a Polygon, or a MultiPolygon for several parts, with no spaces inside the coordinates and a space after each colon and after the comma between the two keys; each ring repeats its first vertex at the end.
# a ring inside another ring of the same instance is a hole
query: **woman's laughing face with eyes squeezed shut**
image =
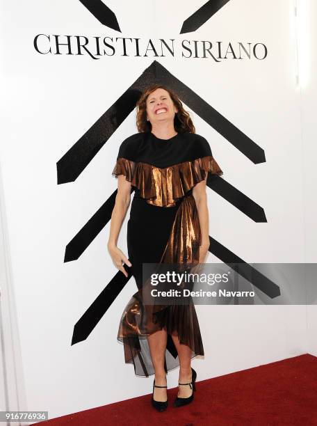
{"type": "Polygon", "coordinates": [[[172,120],[174,123],[176,112],[177,108],[167,90],[158,88],[147,97],[147,119],[152,126],[161,121],[172,120]]]}

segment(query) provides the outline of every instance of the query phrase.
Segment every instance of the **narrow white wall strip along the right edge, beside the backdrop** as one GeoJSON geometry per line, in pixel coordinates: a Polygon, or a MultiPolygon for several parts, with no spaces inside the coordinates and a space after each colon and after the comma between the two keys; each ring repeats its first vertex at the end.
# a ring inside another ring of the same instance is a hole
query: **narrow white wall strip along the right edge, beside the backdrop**
{"type": "MultiPolygon", "coordinates": [[[[316,158],[317,158],[317,3],[314,0],[300,3],[298,24],[299,33],[299,71],[301,75],[300,118],[303,141],[304,176],[304,236],[305,261],[317,262],[317,226],[316,226],[316,158]]],[[[316,305],[307,306],[307,343],[309,354],[317,356],[317,309],[316,305]]]]}

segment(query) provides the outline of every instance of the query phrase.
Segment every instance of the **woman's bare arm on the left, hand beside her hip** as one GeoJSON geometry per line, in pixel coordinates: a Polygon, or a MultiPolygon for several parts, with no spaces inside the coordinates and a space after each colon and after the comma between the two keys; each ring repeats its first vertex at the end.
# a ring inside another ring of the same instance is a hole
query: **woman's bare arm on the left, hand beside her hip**
{"type": "Polygon", "coordinates": [[[115,196],[115,207],[111,214],[110,234],[108,239],[108,252],[111,255],[113,264],[117,269],[120,269],[124,276],[128,276],[127,271],[124,269],[125,263],[131,267],[131,262],[124,253],[117,247],[117,239],[127,214],[127,210],[131,200],[131,182],[127,181],[124,175],[117,177],[117,195],[115,196]]]}

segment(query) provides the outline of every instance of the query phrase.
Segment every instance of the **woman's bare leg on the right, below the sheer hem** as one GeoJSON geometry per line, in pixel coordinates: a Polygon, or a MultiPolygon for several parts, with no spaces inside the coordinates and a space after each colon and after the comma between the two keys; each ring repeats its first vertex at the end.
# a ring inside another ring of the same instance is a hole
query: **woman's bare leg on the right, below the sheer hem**
{"type": "MultiPolygon", "coordinates": [[[[183,345],[179,342],[177,334],[172,334],[172,340],[177,349],[177,354],[179,356],[179,383],[190,383],[191,377],[191,354],[192,350],[189,346],[183,345]]],[[[190,386],[179,386],[179,393],[177,396],[180,398],[187,398],[192,394],[190,386]]]]}

